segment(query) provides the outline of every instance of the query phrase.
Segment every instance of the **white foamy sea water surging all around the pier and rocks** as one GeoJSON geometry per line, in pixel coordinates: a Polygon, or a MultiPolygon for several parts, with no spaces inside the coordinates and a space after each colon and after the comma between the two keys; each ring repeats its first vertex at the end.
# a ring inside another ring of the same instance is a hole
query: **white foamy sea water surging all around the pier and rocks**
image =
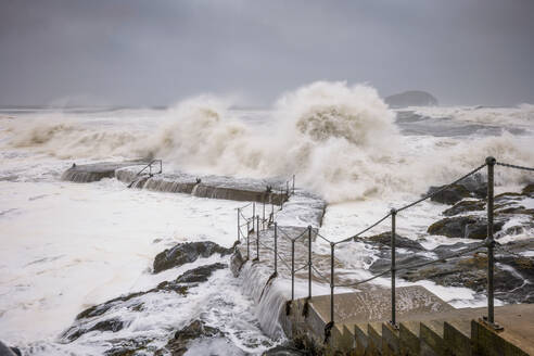
{"type": "MultiPolygon", "coordinates": [[[[128,190],[114,179],[60,181],[73,162],[154,156],[163,158],[165,170],[253,178],[296,174],[298,186],[330,203],[321,233],[333,240],[419,198],[429,186],[465,174],[487,155],[534,166],[532,105],[414,107],[409,111],[421,116],[403,122],[374,89],[343,82],[303,87],[281,96],[269,110],[231,105],[199,97],[168,110],[0,111],[2,341],[34,354],[98,355],[117,335],[58,343],[81,309],[215,260],[151,275],[155,254],[177,242],[230,246],[236,239],[234,208],[242,203],[128,190]]],[[[532,181],[510,169],[496,175],[498,191],[532,181]]],[[[453,243],[424,233],[442,209],[418,205],[399,215],[397,229],[429,249],[453,243]]],[[[387,229],[386,224],[371,232],[387,229]]],[[[354,243],[339,258],[356,279],[364,278],[369,253],[354,243]]],[[[241,293],[241,283],[218,271],[191,297],[145,301],[153,307],[118,336],[150,330],[164,344],[171,329],[204,318],[231,335],[229,354],[260,353],[276,341],[262,331],[254,298],[241,293]],[[231,293],[220,292],[227,285],[231,293]]],[[[467,289],[422,283],[457,306],[480,303],[467,289]]]]}

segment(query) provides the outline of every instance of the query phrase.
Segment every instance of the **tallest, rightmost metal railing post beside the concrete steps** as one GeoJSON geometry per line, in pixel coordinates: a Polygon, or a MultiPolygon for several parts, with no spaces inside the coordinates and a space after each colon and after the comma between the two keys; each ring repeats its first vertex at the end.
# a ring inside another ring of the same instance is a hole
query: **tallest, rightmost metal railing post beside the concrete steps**
{"type": "Polygon", "coordinates": [[[494,246],[495,241],[493,240],[493,194],[494,194],[494,167],[495,158],[487,157],[487,321],[492,325],[495,323],[494,315],[494,246]]]}

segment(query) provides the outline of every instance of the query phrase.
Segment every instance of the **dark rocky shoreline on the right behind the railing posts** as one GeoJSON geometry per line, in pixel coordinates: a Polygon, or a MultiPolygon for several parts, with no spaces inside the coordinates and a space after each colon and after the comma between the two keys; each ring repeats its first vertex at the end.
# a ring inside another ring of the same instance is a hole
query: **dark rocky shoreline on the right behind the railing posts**
{"type": "MultiPolygon", "coordinates": [[[[442,187],[431,188],[433,192],[442,187]]],[[[444,259],[452,253],[471,249],[474,242],[486,238],[486,191],[487,185],[473,179],[454,185],[432,200],[444,204],[443,218],[429,226],[427,232],[466,242],[443,244],[425,250],[419,242],[406,237],[396,237],[397,268],[414,264],[444,259]]],[[[495,196],[494,232],[495,249],[495,297],[505,303],[534,303],[534,239],[520,238],[534,229],[534,183],[523,188],[521,193],[503,193],[495,196]],[[499,239],[507,237],[506,243],[499,239]],[[511,237],[511,238],[510,238],[511,237]]],[[[378,251],[379,258],[369,267],[371,272],[386,269],[391,264],[391,232],[364,238],[361,241],[378,251]]],[[[415,270],[398,274],[407,281],[430,280],[444,287],[466,287],[478,293],[485,293],[487,279],[486,249],[480,249],[463,256],[443,260],[415,270]]]]}

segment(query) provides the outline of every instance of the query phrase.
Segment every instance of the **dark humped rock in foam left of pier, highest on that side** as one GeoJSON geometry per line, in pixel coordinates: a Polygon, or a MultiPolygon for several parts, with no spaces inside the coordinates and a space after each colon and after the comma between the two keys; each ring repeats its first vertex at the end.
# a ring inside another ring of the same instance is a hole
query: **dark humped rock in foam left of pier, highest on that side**
{"type": "Polygon", "coordinates": [[[233,249],[223,247],[212,241],[179,243],[173,249],[165,250],[156,255],[154,259],[154,274],[192,263],[199,257],[209,257],[215,253],[224,256],[232,252],[233,249]]]}

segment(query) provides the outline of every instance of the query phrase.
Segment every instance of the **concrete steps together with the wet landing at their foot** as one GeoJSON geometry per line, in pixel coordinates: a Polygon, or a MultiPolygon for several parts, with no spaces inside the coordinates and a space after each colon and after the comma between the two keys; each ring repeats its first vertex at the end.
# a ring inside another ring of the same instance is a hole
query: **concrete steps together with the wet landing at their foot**
{"type": "Polygon", "coordinates": [[[422,287],[398,288],[397,327],[390,323],[389,290],[336,294],[335,322],[325,342],[330,321],[329,295],[314,296],[304,315],[305,298],[281,315],[287,335],[325,355],[533,355],[534,304],[495,308],[504,327],[490,328],[486,308],[453,308],[422,287]]]}

